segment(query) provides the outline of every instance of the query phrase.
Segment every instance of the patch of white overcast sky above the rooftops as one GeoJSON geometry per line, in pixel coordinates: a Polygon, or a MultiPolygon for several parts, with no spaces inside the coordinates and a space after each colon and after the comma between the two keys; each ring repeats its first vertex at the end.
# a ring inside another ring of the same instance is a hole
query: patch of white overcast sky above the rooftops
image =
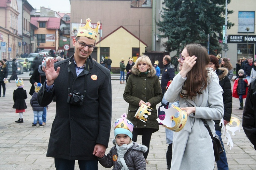
{"type": "Polygon", "coordinates": [[[33,8],[40,10],[41,6],[50,8],[53,11],[70,12],[69,0],[27,0],[33,8]]]}

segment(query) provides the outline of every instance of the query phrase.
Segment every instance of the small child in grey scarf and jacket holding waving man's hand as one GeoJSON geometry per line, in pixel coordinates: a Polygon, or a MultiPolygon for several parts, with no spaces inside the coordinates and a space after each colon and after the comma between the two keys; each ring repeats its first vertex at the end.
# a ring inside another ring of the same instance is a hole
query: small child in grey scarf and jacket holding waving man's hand
{"type": "MultiPolygon", "coordinates": [[[[143,152],[147,151],[145,145],[132,142],[133,124],[126,119],[124,113],[122,118],[115,122],[113,146],[108,155],[98,158],[99,163],[105,168],[113,167],[113,170],[146,169],[146,161],[143,152]]],[[[97,152],[97,151],[96,151],[97,152]]]]}

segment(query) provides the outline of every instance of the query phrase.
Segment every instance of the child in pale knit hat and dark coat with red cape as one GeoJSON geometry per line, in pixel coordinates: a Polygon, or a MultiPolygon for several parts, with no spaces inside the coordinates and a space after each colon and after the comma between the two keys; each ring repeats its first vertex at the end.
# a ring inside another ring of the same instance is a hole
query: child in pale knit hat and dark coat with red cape
{"type": "Polygon", "coordinates": [[[246,95],[247,95],[248,81],[244,76],[243,69],[240,69],[238,71],[238,75],[239,77],[237,77],[234,81],[232,96],[239,98],[239,102],[240,102],[239,109],[242,110],[244,109],[243,98],[246,98],[246,95]]]}

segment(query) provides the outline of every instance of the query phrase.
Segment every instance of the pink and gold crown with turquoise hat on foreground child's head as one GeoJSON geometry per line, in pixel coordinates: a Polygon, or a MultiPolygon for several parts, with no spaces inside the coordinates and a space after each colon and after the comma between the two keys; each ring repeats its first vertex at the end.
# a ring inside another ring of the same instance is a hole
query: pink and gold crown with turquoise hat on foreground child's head
{"type": "Polygon", "coordinates": [[[126,119],[127,115],[124,113],[122,118],[117,119],[115,122],[114,135],[125,134],[132,139],[133,124],[126,119]]]}

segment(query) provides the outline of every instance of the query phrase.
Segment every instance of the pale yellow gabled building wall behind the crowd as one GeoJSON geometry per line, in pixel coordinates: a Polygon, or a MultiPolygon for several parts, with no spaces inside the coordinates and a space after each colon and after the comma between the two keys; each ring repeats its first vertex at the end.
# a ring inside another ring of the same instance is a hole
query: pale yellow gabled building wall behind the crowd
{"type": "Polygon", "coordinates": [[[140,55],[145,52],[146,45],[127,32],[125,29],[120,28],[100,43],[96,45],[97,61],[100,62],[100,48],[110,47],[110,59],[112,60],[111,67],[120,67],[121,58],[125,58],[125,64],[128,62],[129,57],[132,56],[132,48],[140,47],[140,55]]]}

